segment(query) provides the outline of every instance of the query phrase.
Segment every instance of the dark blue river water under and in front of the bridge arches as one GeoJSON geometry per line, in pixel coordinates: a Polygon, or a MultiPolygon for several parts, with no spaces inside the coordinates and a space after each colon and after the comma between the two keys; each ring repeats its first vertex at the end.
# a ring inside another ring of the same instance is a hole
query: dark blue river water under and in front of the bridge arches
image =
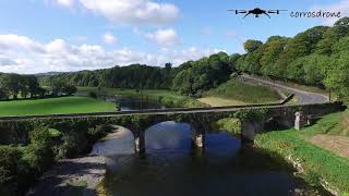
{"type": "Polygon", "coordinates": [[[205,150],[195,150],[188,124],[164,122],[146,131],[146,155],[137,157],[131,132],[119,128],[112,139],[93,149],[108,157],[103,184],[107,195],[274,196],[297,195],[302,189],[317,192],[293,177],[279,160],[253,147],[241,147],[233,136],[206,135],[205,150]]]}

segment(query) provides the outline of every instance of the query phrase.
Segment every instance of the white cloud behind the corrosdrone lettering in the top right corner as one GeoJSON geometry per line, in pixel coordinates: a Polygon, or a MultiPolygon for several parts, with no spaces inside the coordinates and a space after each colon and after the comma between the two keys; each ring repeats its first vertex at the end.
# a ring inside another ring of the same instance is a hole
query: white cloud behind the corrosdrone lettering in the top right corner
{"type": "MultiPolygon", "coordinates": [[[[341,16],[347,16],[349,15],[349,0],[340,0],[337,1],[336,3],[332,4],[316,4],[313,8],[311,8],[311,11],[324,11],[324,12],[340,12],[341,16]]],[[[338,17],[325,17],[321,19],[322,23],[324,25],[334,25],[336,21],[338,21],[338,17]]]]}

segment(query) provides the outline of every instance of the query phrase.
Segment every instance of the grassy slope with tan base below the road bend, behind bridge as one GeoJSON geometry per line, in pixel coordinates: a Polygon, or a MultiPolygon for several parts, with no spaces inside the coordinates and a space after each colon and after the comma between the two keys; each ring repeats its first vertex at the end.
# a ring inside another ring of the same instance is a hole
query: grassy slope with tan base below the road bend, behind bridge
{"type": "Polygon", "coordinates": [[[267,103],[281,99],[281,97],[270,88],[244,84],[236,78],[231,78],[217,88],[206,91],[203,97],[206,99],[209,98],[209,102],[215,102],[215,105],[219,106],[224,106],[224,101],[219,101],[219,99],[230,100],[232,105],[267,103]],[[213,100],[214,98],[218,99],[213,100]]]}

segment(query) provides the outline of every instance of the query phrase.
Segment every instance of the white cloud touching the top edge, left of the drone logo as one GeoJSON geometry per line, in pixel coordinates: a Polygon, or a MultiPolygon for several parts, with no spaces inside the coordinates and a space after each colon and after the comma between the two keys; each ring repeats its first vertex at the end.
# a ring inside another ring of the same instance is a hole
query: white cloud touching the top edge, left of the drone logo
{"type": "Polygon", "coordinates": [[[165,25],[177,21],[180,10],[151,0],[79,0],[81,5],[118,24],[165,25]]]}

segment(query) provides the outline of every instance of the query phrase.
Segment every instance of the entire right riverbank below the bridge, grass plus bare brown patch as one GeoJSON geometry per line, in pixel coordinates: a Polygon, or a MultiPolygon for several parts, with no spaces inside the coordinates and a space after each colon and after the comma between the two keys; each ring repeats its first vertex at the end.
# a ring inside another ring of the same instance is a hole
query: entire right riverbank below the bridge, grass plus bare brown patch
{"type": "Polygon", "coordinates": [[[346,112],[334,113],[301,131],[291,128],[261,134],[256,137],[256,146],[286,160],[297,160],[303,169],[300,175],[309,183],[320,185],[326,181],[332,189],[346,195],[349,194],[349,137],[347,127],[341,124],[347,117],[346,112]]]}

